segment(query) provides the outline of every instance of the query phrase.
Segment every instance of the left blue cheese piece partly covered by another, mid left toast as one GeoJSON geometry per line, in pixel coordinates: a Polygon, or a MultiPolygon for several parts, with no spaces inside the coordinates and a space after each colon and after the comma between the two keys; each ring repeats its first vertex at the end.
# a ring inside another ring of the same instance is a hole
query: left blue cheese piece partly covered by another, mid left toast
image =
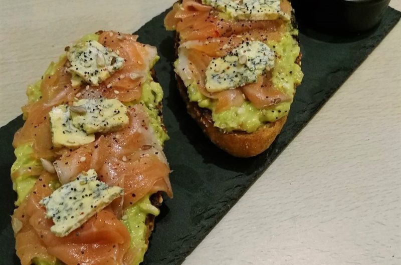
{"type": "Polygon", "coordinates": [[[52,141],[55,147],[78,147],[95,140],[94,134],[88,134],[72,124],[68,105],[53,107],[49,116],[52,141]]]}

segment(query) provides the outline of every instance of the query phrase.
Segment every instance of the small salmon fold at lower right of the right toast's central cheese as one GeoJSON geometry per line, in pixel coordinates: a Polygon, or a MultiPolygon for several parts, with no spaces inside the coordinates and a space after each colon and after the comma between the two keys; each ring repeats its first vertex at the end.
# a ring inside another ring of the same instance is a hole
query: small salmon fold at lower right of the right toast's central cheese
{"type": "Polygon", "coordinates": [[[271,71],[258,78],[255,83],[241,87],[247,99],[259,109],[269,108],[283,101],[291,100],[286,93],[277,90],[271,82],[271,71]]]}

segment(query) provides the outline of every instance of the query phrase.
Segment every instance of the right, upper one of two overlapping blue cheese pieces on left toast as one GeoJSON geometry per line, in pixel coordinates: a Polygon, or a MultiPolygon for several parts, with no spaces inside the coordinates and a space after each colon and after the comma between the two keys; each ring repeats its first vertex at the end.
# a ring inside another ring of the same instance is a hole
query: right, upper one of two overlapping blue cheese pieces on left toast
{"type": "Polygon", "coordinates": [[[128,124],[127,107],[118,99],[80,99],[74,106],[85,111],[71,111],[72,123],[87,133],[115,131],[128,124]]]}

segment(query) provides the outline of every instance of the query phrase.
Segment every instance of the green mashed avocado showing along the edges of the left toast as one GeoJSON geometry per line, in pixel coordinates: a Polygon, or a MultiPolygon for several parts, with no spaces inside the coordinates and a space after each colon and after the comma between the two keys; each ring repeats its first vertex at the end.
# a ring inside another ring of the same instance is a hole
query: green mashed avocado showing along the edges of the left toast
{"type": "MultiPolygon", "coordinates": [[[[98,40],[97,34],[88,34],[80,39],[80,41],[98,40]]],[[[56,69],[60,66],[66,54],[60,56],[59,62],[51,62],[44,75],[53,75],[56,69]]],[[[150,68],[153,67],[154,63],[159,59],[157,56],[150,63],[150,68]]],[[[142,95],[139,102],[126,103],[127,106],[135,103],[140,103],[145,107],[145,110],[149,114],[150,125],[153,128],[153,132],[159,144],[163,144],[168,139],[167,133],[164,131],[161,125],[161,118],[158,115],[159,110],[157,106],[163,98],[163,90],[159,83],[155,82],[151,77],[150,71],[148,72],[148,78],[141,84],[142,95]]],[[[28,86],[27,89],[28,103],[33,103],[39,100],[42,96],[41,92],[41,80],[28,86]]],[[[24,113],[24,117],[27,117],[27,113],[24,113]]],[[[16,161],[11,168],[11,174],[13,179],[13,188],[17,192],[17,201],[15,204],[18,206],[31,192],[36,180],[39,176],[30,175],[29,173],[21,174],[18,177],[14,177],[16,171],[29,171],[28,168],[41,167],[39,159],[33,156],[34,149],[33,143],[28,142],[17,146],[15,149],[16,161]],[[25,169],[25,170],[24,170],[25,169]]],[[[60,186],[60,183],[56,183],[55,188],[60,186]]],[[[123,219],[121,220],[126,226],[131,235],[131,247],[139,249],[138,255],[131,265],[137,265],[143,261],[143,255],[146,252],[147,244],[146,240],[146,225],[145,220],[148,214],[158,215],[159,210],[154,207],[149,200],[151,194],[147,194],[141,200],[136,202],[134,205],[124,210],[123,219]]],[[[36,265],[63,265],[64,263],[54,257],[43,259],[39,257],[33,258],[32,262],[36,265]]]]}

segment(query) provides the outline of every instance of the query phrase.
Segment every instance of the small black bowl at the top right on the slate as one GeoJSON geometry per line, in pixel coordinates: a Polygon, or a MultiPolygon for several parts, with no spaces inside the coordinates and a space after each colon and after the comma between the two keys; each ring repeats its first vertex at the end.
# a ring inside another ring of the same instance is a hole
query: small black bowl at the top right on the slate
{"type": "Polygon", "coordinates": [[[292,0],[300,22],[320,29],[361,32],[374,27],[390,0],[292,0]]]}

